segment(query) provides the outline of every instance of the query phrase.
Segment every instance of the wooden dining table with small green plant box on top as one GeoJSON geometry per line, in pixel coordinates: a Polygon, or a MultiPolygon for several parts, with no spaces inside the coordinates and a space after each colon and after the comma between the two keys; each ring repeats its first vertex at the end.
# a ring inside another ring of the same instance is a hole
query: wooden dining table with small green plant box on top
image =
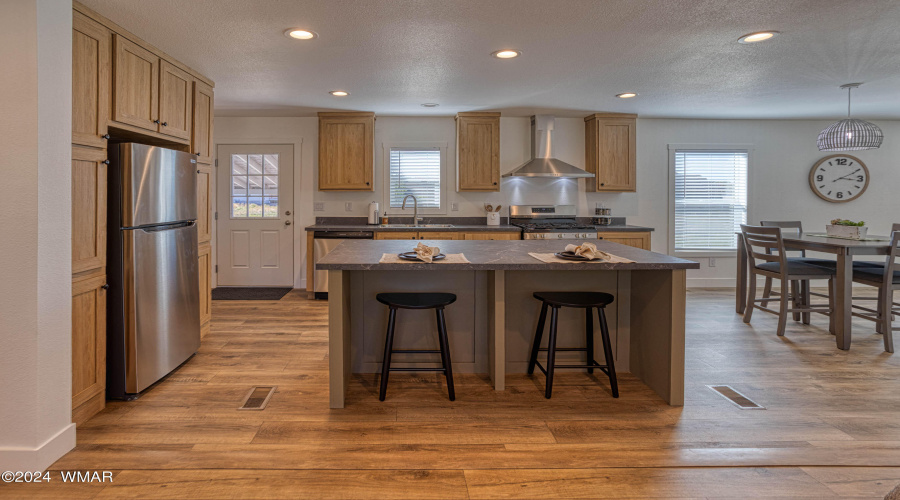
{"type": "MultiPolygon", "coordinates": [[[[740,234],[738,242],[740,243],[740,234]]],[[[859,256],[888,255],[891,239],[868,235],[865,239],[837,238],[816,233],[782,233],[785,250],[806,250],[832,254],[837,261],[834,297],[834,333],[838,349],[850,349],[853,330],[853,259],[859,256]]],[[[737,291],[735,311],[743,314],[747,307],[748,259],[744,245],[738,244],[737,291]]]]}

